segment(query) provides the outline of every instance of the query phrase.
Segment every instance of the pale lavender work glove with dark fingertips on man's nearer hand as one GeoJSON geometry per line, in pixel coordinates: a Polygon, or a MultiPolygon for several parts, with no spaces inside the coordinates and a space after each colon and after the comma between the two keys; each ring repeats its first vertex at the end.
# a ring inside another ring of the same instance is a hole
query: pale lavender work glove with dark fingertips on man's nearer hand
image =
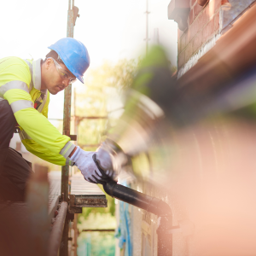
{"type": "Polygon", "coordinates": [[[108,176],[96,166],[96,162],[93,160],[95,154],[96,152],[84,151],[77,146],[70,160],[73,160],[74,165],[78,166],[85,180],[90,183],[104,184],[108,182],[108,176]]]}

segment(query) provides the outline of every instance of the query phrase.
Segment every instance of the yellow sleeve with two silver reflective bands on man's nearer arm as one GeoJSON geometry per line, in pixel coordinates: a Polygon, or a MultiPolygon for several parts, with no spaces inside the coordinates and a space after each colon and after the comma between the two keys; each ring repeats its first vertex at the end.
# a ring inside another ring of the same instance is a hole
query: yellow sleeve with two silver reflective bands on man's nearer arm
{"type": "MultiPolygon", "coordinates": [[[[22,130],[26,131],[26,134],[35,143],[45,148],[42,151],[44,154],[47,149],[48,154],[52,157],[61,154],[67,159],[75,146],[70,143],[69,137],[61,135],[60,131],[49,122],[45,113],[39,113],[33,108],[32,97],[29,94],[30,80],[28,77],[30,77],[30,72],[26,63],[22,63],[22,60],[15,64],[12,63],[4,69],[4,73],[11,73],[11,76],[6,77],[7,83],[1,85],[0,89],[2,89],[3,98],[9,102],[22,130]]],[[[3,73],[0,77],[4,79],[3,73]]],[[[1,82],[0,80],[0,84],[1,82]]],[[[32,151],[35,154],[35,151],[32,151]]]]}

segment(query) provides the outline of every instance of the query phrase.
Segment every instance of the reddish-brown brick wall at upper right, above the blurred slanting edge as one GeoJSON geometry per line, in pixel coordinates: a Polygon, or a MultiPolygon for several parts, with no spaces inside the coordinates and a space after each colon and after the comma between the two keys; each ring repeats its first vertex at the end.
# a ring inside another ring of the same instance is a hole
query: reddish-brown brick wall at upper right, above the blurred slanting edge
{"type": "Polygon", "coordinates": [[[177,68],[180,69],[219,29],[219,11],[227,0],[210,0],[204,7],[190,0],[188,29],[177,33],[177,68]]]}

